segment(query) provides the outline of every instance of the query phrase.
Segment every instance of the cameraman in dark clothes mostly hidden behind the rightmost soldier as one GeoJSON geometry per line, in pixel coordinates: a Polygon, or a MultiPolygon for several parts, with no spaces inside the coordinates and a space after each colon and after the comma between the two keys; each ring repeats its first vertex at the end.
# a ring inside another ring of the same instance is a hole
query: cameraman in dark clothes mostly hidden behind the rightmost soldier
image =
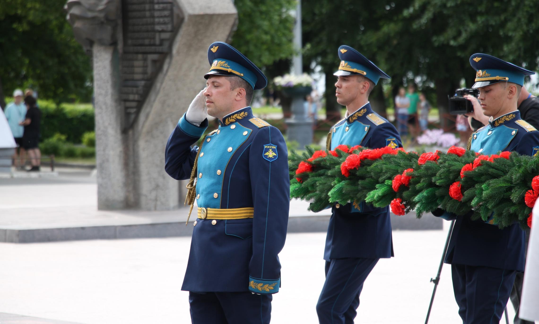
{"type": "MultiPolygon", "coordinates": [[[[483,114],[479,99],[473,95],[466,94],[464,98],[472,102],[473,113],[466,114],[468,116],[468,123],[470,127],[475,130],[488,125],[489,117],[483,114]]],[[[539,98],[528,92],[526,87],[522,86],[522,90],[517,100],[517,109],[519,109],[521,117],[524,121],[528,122],[531,126],[539,129],[539,98]]],[[[526,250],[528,250],[528,240],[530,237],[530,229],[524,230],[526,233],[526,250]]],[[[524,273],[517,272],[513,289],[510,294],[510,299],[515,308],[514,324],[533,324],[533,322],[522,320],[519,318],[520,298],[522,295],[522,282],[524,279],[524,273]]]]}

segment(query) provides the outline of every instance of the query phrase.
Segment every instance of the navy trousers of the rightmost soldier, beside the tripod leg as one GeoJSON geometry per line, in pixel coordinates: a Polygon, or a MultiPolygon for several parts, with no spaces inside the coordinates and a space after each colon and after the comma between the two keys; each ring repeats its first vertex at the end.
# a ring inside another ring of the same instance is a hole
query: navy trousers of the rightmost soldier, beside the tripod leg
{"type": "Polygon", "coordinates": [[[462,324],[500,323],[516,271],[451,265],[451,273],[462,324]]]}

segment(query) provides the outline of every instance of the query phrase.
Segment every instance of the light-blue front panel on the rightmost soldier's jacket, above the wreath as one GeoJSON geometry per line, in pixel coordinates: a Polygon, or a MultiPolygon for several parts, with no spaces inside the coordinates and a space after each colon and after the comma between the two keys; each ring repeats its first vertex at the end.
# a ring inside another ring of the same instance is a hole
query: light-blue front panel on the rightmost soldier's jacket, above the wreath
{"type": "Polygon", "coordinates": [[[518,129],[505,125],[495,128],[487,126],[472,135],[472,146],[470,148],[484,155],[497,154],[507,148],[517,132],[519,132],[518,129]],[[473,136],[476,136],[476,138],[474,139],[473,136]]]}

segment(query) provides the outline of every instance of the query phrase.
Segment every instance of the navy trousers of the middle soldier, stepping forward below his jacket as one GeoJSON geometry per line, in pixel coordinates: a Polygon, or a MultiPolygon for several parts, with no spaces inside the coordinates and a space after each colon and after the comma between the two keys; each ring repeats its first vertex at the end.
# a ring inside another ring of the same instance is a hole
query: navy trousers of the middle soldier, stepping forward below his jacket
{"type": "Polygon", "coordinates": [[[326,262],[326,282],[316,313],[320,324],[353,324],[363,282],[379,259],[347,258],[326,262]]]}

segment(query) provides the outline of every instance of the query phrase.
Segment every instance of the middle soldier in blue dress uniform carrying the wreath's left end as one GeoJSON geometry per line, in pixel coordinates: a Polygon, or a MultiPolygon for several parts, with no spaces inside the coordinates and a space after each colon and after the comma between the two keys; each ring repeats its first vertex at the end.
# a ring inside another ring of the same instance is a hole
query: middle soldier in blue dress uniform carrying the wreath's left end
{"type": "MultiPolygon", "coordinates": [[[[338,56],[336,97],[347,113],[331,127],[327,149],[340,144],[402,147],[395,126],[369,104],[372,88],[389,75],[350,46],[339,47],[338,56]]],[[[363,282],[380,258],[392,256],[389,207],[375,208],[365,202],[334,204],[324,251],[326,282],[316,305],[320,323],[353,323],[363,282]]]]}

